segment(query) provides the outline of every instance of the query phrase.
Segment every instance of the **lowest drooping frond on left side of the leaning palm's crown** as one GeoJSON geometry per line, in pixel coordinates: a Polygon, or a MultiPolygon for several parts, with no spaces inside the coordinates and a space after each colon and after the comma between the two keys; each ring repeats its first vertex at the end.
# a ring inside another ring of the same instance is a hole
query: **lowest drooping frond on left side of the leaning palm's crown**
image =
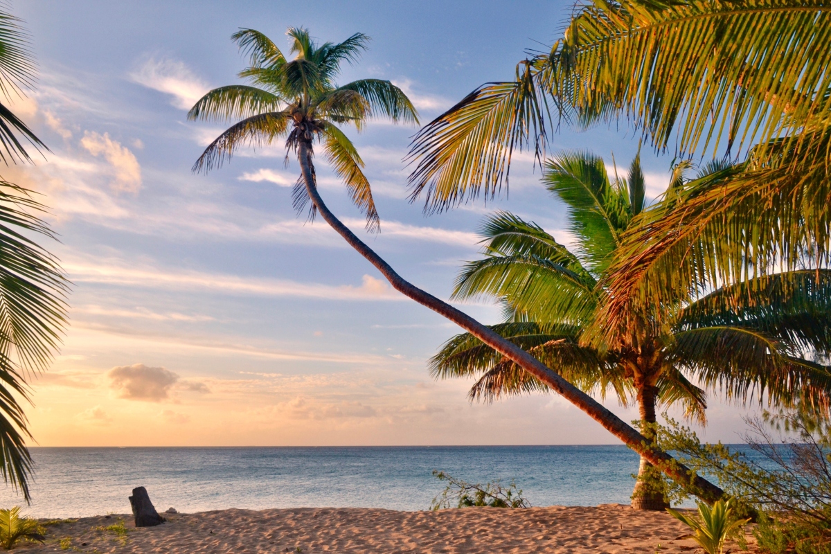
{"type": "Polygon", "coordinates": [[[289,120],[286,112],[274,111],[252,115],[231,125],[199,156],[192,168],[194,173],[221,167],[242,146],[271,145],[278,137],[288,134],[289,120]]]}

